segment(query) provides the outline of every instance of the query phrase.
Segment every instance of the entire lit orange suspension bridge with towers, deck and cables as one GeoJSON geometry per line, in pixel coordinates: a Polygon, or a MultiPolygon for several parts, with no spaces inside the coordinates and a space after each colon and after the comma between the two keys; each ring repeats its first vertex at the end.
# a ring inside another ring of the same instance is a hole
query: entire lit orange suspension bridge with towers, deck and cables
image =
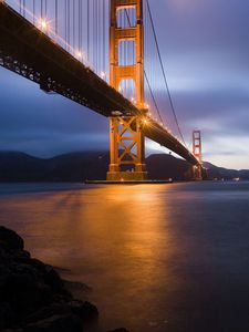
{"type": "Polygon", "coordinates": [[[145,137],[203,178],[200,132],[190,152],[148,0],[1,0],[0,65],[110,118],[108,180],[147,178],[145,137]]]}

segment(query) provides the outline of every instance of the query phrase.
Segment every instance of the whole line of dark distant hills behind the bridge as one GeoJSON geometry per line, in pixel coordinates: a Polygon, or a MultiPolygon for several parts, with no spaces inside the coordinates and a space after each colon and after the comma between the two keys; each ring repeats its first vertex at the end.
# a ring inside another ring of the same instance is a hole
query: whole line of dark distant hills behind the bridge
{"type": "MultiPolygon", "coordinates": [[[[49,159],[19,152],[0,152],[0,181],[82,181],[104,179],[108,168],[108,152],[79,152],[49,159]]],[[[172,155],[155,154],[146,158],[152,179],[188,180],[187,162],[172,155]]],[[[220,168],[205,163],[209,178],[249,179],[249,170],[220,168]]]]}

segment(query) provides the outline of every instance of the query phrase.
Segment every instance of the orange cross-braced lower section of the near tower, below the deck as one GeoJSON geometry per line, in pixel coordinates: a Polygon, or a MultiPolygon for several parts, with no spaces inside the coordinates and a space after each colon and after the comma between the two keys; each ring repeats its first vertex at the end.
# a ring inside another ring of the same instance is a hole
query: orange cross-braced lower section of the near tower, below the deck
{"type": "Polygon", "coordinates": [[[107,180],[146,180],[145,142],[141,116],[110,118],[107,180]]]}

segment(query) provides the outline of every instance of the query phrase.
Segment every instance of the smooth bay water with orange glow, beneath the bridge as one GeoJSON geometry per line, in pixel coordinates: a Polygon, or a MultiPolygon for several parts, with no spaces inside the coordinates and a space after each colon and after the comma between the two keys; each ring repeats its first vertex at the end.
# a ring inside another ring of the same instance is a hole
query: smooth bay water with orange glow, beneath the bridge
{"type": "Polygon", "coordinates": [[[249,183],[0,185],[0,224],[93,288],[105,330],[249,331],[249,183]]]}

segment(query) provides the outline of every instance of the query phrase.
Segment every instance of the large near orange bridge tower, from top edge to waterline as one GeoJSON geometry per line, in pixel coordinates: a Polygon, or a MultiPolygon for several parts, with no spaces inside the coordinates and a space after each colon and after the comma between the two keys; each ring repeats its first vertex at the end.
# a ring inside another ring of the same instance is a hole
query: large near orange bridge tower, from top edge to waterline
{"type": "MultiPolygon", "coordinates": [[[[136,106],[146,114],[144,101],[144,25],[143,0],[111,0],[110,28],[110,84],[117,91],[126,80],[134,82],[136,106]],[[135,22],[132,27],[120,27],[121,11],[134,10],[135,22]],[[132,42],[134,63],[121,61],[121,43],[132,42]]],[[[118,111],[118,110],[117,110],[118,111]]],[[[145,139],[142,132],[143,116],[113,116],[110,118],[110,169],[107,180],[144,180],[147,178],[145,166],[145,139]],[[127,172],[128,170],[128,172],[127,172]]]]}

